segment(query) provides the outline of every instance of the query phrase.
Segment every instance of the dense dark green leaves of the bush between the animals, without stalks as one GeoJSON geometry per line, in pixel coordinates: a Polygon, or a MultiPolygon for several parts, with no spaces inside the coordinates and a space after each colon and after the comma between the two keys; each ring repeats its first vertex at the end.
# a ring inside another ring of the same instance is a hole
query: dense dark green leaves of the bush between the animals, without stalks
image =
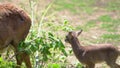
{"type": "MultiPolygon", "coordinates": [[[[32,34],[31,37],[36,37],[33,35],[34,34],[32,34]]],[[[34,54],[36,51],[39,51],[39,62],[42,63],[40,66],[44,66],[45,63],[50,59],[53,60],[52,57],[56,55],[55,51],[61,51],[65,56],[67,56],[64,48],[65,47],[62,41],[51,32],[42,32],[41,37],[38,37],[32,41],[27,40],[21,42],[19,45],[19,50],[25,51],[28,54],[34,54]]]]}

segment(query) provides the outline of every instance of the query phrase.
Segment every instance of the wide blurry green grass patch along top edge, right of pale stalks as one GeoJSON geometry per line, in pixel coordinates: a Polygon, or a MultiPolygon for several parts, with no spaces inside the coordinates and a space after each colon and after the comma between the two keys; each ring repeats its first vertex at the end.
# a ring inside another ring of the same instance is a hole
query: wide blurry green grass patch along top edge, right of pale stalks
{"type": "Polygon", "coordinates": [[[72,13],[92,13],[93,10],[93,4],[95,3],[95,0],[59,0],[56,1],[54,4],[54,9],[61,11],[61,10],[69,10],[72,13]]]}

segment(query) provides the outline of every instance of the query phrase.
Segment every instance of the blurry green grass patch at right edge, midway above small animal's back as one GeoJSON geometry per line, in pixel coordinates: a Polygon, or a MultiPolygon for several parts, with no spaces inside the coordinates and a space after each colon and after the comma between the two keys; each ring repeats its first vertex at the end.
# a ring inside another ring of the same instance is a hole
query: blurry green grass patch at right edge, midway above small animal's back
{"type": "Polygon", "coordinates": [[[102,22],[101,29],[105,29],[108,32],[116,32],[117,27],[120,25],[120,19],[113,19],[109,15],[103,15],[98,18],[98,21],[102,22]]]}

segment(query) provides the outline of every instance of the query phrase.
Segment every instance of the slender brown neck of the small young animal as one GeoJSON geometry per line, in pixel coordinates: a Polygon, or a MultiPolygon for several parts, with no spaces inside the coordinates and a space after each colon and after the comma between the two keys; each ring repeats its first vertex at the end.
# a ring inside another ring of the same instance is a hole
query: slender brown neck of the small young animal
{"type": "Polygon", "coordinates": [[[78,38],[72,39],[70,44],[72,45],[73,51],[75,53],[83,52],[84,47],[80,45],[80,42],[79,42],[78,38]]]}

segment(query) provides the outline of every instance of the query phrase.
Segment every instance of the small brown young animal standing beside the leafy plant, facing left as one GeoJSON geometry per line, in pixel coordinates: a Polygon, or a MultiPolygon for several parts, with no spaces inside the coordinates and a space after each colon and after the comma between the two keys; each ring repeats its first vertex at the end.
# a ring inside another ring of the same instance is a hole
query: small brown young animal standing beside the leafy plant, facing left
{"type": "Polygon", "coordinates": [[[105,61],[111,68],[120,68],[116,59],[120,55],[118,48],[111,44],[98,44],[96,46],[81,46],[77,36],[82,31],[69,32],[66,42],[70,43],[77,59],[86,65],[85,68],[95,68],[95,63],[105,61]]]}

